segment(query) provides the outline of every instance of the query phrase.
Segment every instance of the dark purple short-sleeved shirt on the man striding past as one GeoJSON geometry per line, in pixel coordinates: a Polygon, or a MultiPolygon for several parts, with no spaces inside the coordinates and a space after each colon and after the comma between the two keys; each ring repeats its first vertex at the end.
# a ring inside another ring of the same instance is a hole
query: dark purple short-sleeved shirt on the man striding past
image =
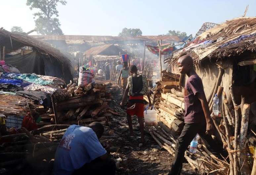
{"type": "Polygon", "coordinates": [[[198,75],[191,75],[184,88],[185,123],[205,121],[201,102],[196,96],[198,93],[204,94],[202,80],[198,75]]]}

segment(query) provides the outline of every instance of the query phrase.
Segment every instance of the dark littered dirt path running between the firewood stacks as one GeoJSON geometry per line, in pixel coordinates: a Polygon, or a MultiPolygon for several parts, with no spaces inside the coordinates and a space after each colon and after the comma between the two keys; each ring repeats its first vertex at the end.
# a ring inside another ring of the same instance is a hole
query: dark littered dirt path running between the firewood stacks
{"type": "MultiPolygon", "coordinates": [[[[160,149],[149,133],[145,132],[146,144],[139,147],[141,135],[137,117],[133,117],[134,137],[129,136],[129,128],[123,126],[119,121],[127,123],[126,112],[120,108],[121,94],[115,95],[115,100],[111,104],[120,115],[112,116],[109,128],[118,134],[117,139],[108,140],[108,144],[120,147],[118,152],[110,153],[111,158],[120,161],[117,167],[117,174],[168,174],[173,157],[166,150],[160,149]]],[[[194,174],[189,170],[188,163],[183,164],[182,174],[194,174]]]]}

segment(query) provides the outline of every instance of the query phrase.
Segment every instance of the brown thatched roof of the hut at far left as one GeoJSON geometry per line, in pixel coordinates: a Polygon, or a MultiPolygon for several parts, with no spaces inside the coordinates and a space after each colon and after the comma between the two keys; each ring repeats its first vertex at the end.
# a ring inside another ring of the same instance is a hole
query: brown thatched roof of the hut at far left
{"type": "Polygon", "coordinates": [[[22,33],[12,33],[4,29],[0,29],[0,45],[1,50],[5,46],[5,53],[10,53],[24,46],[30,46],[41,54],[51,56],[51,59],[56,59],[65,67],[69,67],[69,59],[59,50],[50,46],[48,43],[30,37],[22,33]]]}

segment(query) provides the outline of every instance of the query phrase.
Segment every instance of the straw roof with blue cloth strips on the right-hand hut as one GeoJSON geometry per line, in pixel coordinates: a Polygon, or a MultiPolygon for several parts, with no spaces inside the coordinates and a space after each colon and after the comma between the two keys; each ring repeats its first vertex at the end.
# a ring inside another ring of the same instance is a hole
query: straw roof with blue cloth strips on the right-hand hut
{"type": "MultiPolygon", "coordinates": [[[[240,17],[218,25],[202,33],[182,49],[174,51],[166,60],[175,63],[181,55],[192,56],[195,63],[238,58],[241,54],[256,51],[256,17],[240,17]]],[[[240,58],[240,57],[239,57],[240,58]]],[[[243,58],[243,60],[250,59],[243,58]]]]}

